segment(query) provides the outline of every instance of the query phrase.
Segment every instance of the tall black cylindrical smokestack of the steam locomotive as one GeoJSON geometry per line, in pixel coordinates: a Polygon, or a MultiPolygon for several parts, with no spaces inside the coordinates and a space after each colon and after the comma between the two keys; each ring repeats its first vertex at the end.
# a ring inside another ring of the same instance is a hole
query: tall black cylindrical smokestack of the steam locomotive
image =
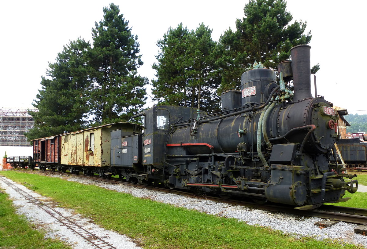
{"type": "Polygon", "coordinates": [[[294,96],[293,101],[312,98],[310,46],[298,45],[291,48],[294,96]]]}

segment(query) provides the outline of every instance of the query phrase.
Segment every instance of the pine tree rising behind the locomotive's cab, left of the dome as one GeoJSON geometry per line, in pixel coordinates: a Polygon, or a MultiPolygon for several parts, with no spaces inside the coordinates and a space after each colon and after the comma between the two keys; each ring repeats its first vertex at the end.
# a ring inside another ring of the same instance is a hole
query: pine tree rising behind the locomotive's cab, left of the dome
{"type": "Polygon", "coordinates": [[[152,83],[153,94],[161,104],[199,105],[204,111],[219,107],[215,93],[220,83],[214,57],[217,43],[211,33],[203,23],[195,31],[180,23],[157,41],[161,52],[156,56],[158,63],[152,66],[157,72],[152,83]]]}

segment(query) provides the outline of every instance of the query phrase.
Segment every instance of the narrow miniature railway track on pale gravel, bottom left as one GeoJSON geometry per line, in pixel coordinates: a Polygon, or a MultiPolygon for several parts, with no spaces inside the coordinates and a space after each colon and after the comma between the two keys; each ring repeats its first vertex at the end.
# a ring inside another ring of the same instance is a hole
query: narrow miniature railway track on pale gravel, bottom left
{"type": "Polygon", "coordinates": [[[9,187],[14,189],[16,192],[21,194],[26,200],[29,200],[37,207],[41,208],[47,215],[51,216],[52,218],[56,219],[62,226],[65,226],[73,233],[77,234],[77,236],[83,238],[88,242],[88,244],[92,244],[95,246],[96,249],[117,249],[116,247],[110,245],[106,241],[103,241],[101,238],[97,237],[96,235],[90,233],[89,231],[85,230],[83,227],[80,227],[78,224],[75,224],[65,216],[61,215],[59,212],[55,211],[54,209],[48,207],[46,204],[42,203],[37,198],[33,197],[31,194],[25,192],[24,190],[20,189],[18,186],[14,185],[12,182],[8,181],[6,178],[1,177],[1,181],[6,183],[9,187]]]}

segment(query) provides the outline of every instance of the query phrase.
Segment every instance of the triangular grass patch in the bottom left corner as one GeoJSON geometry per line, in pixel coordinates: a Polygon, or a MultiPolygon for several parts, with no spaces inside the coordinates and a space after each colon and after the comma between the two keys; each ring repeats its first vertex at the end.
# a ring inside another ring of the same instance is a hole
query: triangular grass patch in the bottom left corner
{"type": "Polygon", "coordinates": [[[71,249],[57,239],[45,239],[44,233],[17,215],[6,193],[0,193],[0,248],[71,249]]]}

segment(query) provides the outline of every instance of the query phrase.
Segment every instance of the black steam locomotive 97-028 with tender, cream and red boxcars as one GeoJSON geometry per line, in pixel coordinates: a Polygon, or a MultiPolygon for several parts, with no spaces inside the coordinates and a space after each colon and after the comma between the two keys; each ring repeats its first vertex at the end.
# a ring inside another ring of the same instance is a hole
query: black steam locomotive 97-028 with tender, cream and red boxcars
{"type": "Polygon", "coordinates": [[[222,93],[222,109],[155,106],[116,123],[33,141],[33,167],[76,174],[119,175],[171,189],[249,197],[299,209],[346,201],[356,175],[336,156],[338,115],[310,90],[310,46],[291,49],[273,70],[254,64],[241,91],[222,93]],[[293,80],[294,92],[289,81],[293,80]],[[345,181],[345,178],[351,180],[345,181]]]}

